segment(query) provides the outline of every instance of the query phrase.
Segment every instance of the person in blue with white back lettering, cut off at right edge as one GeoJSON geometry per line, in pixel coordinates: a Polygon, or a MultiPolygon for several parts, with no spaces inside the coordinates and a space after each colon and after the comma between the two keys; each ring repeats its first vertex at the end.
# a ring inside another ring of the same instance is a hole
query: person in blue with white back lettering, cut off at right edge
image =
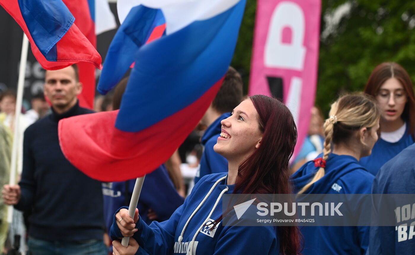
{"type": "MultiPolygon", "coordinates": [[[[396,157],[383,165],[375,177],[372,186],[373,194],[415,194],[415,144],[410,145],[396,157]]],[[[413,202],[413,201],[412,201],[413,202]]],[[[386,206],[384,200],[376,204],[377,208],[391,208],[391,213],[399,207],[401,214],[396,217],[397,227],[370,228],[370,255],[415,255],[415,204],[396,204],[386,206]],[[406,207],[405,210],[403,208],[406,207]],[[407,217],[402,215],[407,214],[407,217]],[[404,220],[408,218],[408,220],[404,220]]],[[[377,210],[378,211],[378,210],[377,210]]],[[[396,212],[395,211],[395,212],[396,212]]],[[[379,212],[378,213],[382,213],[379,212]]],[[[395,215],[395,213],[393,213],[395,215]]]]}

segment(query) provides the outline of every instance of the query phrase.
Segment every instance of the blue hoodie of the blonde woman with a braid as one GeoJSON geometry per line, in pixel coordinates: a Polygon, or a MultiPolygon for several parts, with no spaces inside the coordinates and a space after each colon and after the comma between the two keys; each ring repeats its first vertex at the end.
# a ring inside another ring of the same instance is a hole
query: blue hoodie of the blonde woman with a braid
{"type": "MultiPolygon", "coordinates": [[[[296,193],[311,181],[318,169],[310,161],[293,174],[296,193]]],[[[330,153],[325,175],[304,194],[371,194],[373,180],[374,176],[356,158],[330,153]]],[[[303,255],[364,254],[369,245],[368,226],[305,226],[300,230],[304,236],[303,255]]]]}

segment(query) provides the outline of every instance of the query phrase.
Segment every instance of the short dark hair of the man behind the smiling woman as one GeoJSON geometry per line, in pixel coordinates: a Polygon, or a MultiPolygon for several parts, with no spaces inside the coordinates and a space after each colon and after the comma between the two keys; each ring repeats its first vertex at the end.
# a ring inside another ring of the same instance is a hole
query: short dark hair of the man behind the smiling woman
{"type": "Polygon", "coordinates": [[[244,83],[241,75],[232,67],[225,75],[219,91],[213,99],[212,107],[219,113],[232,112],[242,101],[244,83]]]}

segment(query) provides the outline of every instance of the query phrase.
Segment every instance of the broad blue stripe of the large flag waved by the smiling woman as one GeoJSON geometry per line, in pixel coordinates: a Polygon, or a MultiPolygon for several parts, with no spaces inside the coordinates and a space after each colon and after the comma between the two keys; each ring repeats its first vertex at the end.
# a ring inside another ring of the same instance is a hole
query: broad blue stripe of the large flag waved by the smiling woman
{"type": "Polygon", "coordinates": [[[135,54],[115,126],[129,132],[150,127],[219,81],[232,60],[244,6],[242,0],[220,15],[143,45],[135,54]]]}

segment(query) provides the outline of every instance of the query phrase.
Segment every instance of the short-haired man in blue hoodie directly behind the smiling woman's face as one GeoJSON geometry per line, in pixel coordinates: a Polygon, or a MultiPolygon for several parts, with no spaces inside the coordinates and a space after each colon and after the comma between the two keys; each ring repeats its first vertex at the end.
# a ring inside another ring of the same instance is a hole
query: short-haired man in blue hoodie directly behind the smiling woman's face
{"type": "Polygon", "coordinates": [[[221,133],[220,122],[228,118],[232,109],[241,103],[243,86],[241,75],[229,66],[222,86],[200,120],[200,124],[207,126],[207,129],[200,141],[204,150],[196,172],[195,184],[207,174],[223,173],[228,170],[227,160],[217,154],[213,146],[221,133]]]}

